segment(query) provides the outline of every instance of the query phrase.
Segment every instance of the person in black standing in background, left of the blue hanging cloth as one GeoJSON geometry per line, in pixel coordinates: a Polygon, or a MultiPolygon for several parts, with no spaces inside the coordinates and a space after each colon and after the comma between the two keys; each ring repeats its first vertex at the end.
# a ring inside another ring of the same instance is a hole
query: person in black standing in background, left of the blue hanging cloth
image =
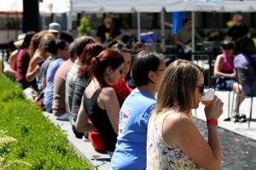
{"type": "Polygon", "coordinates": [[[106,47],[111,47],[121,39],[120,34],[121,31],[113,24],[112,18],[106,16],[103,25],[97,29],[96,42],[102,42],[106,47]]]}

